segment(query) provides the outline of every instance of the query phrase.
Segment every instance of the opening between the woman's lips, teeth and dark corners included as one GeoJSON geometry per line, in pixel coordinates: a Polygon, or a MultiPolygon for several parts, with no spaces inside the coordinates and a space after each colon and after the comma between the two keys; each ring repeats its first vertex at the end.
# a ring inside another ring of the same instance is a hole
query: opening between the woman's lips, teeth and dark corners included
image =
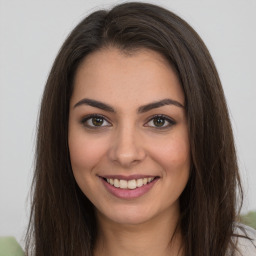
{"type": "Polygon", "coordinates": [[[159,177],[143,177],[139,179],[102,178],[105,182],[115,188],[133,190],[145,186],[159,177]]]}

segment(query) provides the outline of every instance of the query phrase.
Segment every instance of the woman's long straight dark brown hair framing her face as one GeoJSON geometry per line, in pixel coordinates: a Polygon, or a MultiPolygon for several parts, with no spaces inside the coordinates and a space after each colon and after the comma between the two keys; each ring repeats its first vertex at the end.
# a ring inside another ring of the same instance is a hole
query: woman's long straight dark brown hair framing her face
{"type": "Polygon", "coordinates": [[[197,33],[174,13],[146,3],[92,13],[60,49],[41,104],[27,254],[92,255],[97,222],[70,165],[69,101],[78,65],[88,54],[109,46],[157,51],[177,72],[185,94],[192,159],[180,197],[185,255],[224,256],[228,248],[235,249],[231,237],[242,189],[221,82],[197,33]]]}

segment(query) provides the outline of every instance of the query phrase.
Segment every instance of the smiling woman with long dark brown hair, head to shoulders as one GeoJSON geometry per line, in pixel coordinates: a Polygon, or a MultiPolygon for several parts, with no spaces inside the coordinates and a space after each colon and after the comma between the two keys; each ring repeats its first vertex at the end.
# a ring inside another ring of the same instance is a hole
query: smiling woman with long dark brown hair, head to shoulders
{"type": "Polygon", "coordinates": [[[94,12],[65,41],[33,193],[37,256],[256,252],[255,232],[235,223],[242,189],[214,63],[185,21],[151,4],[94,12]]]}

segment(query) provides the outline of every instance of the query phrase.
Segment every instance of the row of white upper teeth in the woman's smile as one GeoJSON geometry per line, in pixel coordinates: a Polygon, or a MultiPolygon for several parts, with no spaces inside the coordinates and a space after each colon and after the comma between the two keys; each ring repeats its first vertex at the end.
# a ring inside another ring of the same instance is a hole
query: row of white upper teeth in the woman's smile
{"type": "Polygon", "coordinates": [[[116,188],[135,189],[148,184],[152,180],[154,180],[154,178],[151,177],[151,178],[143,178],[143,179],[137,179],[137,180],[107,179],[107,182],[116,188]]]}

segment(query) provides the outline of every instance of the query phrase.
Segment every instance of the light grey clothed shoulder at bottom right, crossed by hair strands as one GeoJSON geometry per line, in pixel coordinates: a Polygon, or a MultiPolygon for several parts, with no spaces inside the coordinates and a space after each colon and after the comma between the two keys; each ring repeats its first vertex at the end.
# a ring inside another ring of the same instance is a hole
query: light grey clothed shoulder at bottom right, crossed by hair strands
{"type": "Polygon", "coordinates": [[[241,223],[235,223],[234,234],[237,235],[234,241],[240,252],[236,255],[256,256],[256,230],[241,223]]]}

